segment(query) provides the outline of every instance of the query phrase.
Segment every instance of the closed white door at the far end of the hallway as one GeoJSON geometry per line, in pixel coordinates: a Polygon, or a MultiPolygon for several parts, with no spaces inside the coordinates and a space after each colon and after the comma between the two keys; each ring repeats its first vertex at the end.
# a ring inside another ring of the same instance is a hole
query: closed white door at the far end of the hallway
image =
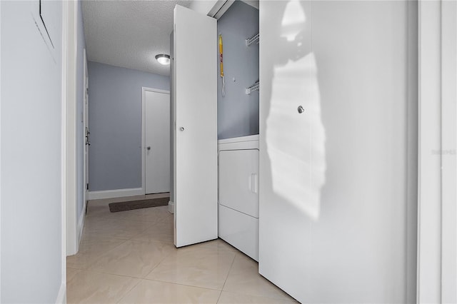
{"type": "Polygon", "coordinates": [[[170,94],[144,91],[146,194],[170,192],[170,94]]]}

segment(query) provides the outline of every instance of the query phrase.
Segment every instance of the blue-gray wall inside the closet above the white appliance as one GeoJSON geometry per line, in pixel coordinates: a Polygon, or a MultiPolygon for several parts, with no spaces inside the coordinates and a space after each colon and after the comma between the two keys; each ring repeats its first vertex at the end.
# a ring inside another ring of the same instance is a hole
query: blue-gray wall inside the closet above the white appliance
{"type": "MultiPolygon", "coordinates": [[[[258,80],[258,44],[246,46],[246,39],[258,34],[258,10],[235,1],[219,19],[218,34],[224,42],[226,82],[226,96],[222,97],[218,64],[218,138],[258,134],[258,91],[246,95],[246,88],[258,80]]],[[[217,53],[219,56],[219,47],[217,53]]]]}

